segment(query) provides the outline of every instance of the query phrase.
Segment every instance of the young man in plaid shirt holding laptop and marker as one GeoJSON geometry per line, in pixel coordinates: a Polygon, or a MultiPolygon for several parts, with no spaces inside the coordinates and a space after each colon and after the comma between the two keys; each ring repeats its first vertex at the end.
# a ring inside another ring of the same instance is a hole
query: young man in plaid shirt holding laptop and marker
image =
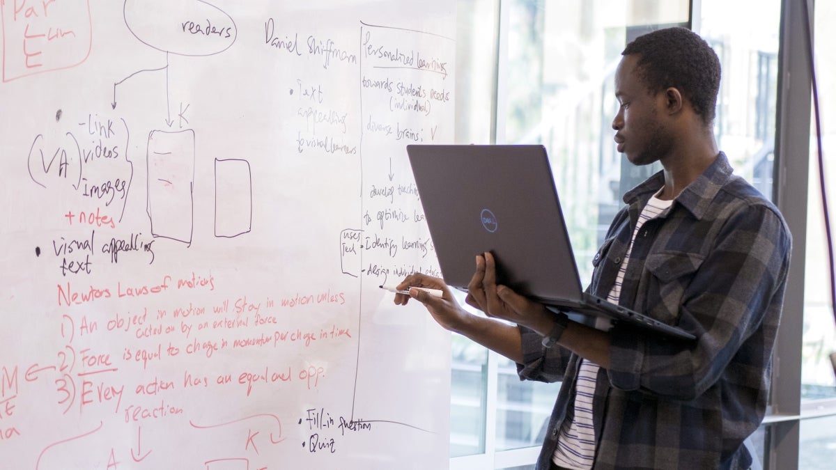
{"type": "Polygon", "coordinates": [[[568,322],[497,285],[491,253],[477,256],[466,297],[489,318],[418,273],[398,289],[444,289],[443,298],[412,289],[395,304],[420,301],[447,330],[516,361],[522,379],[563,381],[539,470],[748,468],[743,442],[767,406],[791,236],[717,149],[720,63],[711,47],[669,28],[622,55],[614,140],[635,165],[660,161],[664,170],[624,195],[589,291],[696,340],[568,322]]]}

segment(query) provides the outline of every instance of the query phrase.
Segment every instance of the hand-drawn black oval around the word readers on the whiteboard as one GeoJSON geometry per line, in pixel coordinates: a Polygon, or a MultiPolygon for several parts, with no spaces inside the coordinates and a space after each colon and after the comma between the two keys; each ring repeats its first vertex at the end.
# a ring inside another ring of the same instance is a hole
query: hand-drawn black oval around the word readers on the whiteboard
{"type": "Polygon", "coordinates": [[[171,54],[220,54],[238,35],[232,17],[203,0],[125,0],[123,15],[141,43],[171,54]]]}

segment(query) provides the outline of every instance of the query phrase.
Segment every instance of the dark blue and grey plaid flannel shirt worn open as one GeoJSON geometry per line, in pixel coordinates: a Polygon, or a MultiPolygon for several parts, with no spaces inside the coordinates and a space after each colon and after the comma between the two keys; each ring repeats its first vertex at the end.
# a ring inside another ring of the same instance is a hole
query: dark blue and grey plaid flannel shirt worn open
{"type": "MultiPolygon", "coordinates": [[[[589,292],[606,297],[661,173],[624,195],[594,257],[589,292]]],[[[594,397],[594,468],[748,468],[743,441],[767,407],[792,238],[777,208],[722,152],[636,234],[619,304],[696,335],[666,340],[615,325],[594,397]]],[[[563,381],[538,459],[548,469],[573,401],[579,357],[520,327],[521,379],[563,381]]]]}

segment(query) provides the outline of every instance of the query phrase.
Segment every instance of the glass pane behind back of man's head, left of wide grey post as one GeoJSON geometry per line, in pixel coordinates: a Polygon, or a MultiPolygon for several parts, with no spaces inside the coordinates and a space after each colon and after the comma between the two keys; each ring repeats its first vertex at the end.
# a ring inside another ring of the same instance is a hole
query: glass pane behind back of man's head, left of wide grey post
{"type": "Polygon", "coordinates": [[[722,69],[717,144],[735,172],[772,199],[781,2],[702,0],[701,13],[698,33],[714,48],[722,69]]]}

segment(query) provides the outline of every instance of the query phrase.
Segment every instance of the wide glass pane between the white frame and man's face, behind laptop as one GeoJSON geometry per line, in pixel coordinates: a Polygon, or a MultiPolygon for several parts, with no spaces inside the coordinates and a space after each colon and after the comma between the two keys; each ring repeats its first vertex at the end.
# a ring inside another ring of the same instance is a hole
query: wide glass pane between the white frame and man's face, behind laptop
{"type": "MultiPolygon", "coordinates": [[[[507,110],[500,143],[547,147],[584,284],[621,196],[650,171],[615,149],[614,70],[630,34],[648,24],[686,23],[689,2],[512,0],[507,3],[507,110]],[[572,197],[584,195],[584,197],[572,197]]],[[[655,170],[654,170],[655,171],[655,170]]],[[[497,450],[537,446],[559,384],[519,381],[499,363],[497,450]]],[[[521,462],[522,463],[522,462],[521,462]]]]}

